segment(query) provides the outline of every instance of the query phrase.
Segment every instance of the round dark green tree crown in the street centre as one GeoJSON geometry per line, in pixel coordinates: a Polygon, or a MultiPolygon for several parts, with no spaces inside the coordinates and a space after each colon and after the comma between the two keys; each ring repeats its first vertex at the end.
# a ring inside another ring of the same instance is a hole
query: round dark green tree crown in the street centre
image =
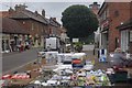
{"type": "Polygon", "coordinates": [[[88,37],[98,28],[96,14],[86,6],[70,6],[62,13],[63,26],[67,29],[67,35],[73,37],[88,37]]]}

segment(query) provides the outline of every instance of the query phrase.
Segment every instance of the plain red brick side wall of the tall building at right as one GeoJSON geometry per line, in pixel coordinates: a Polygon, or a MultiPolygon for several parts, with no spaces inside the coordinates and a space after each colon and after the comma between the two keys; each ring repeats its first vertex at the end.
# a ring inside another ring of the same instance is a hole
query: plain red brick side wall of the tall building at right
{"type": "MultiPolygon", "coordinates": [[[[130,3],[109,2],[110,29],[109,29],[109,52],[116,50],[116,37],[120,38],[119,31],[116,29],[121,22],[130,19],[130,3]]],[[[120,43],[119,43],[120,44],[120,43]]]]}

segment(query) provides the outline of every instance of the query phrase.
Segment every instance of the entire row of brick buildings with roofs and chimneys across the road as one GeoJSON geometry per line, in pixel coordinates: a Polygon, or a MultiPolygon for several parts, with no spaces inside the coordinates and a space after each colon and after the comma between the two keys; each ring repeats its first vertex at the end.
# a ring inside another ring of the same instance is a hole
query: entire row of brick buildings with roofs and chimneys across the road
{"type": "Polygon", "coordinates": [[[16,4],[14,9],[10,8],[9,11],[2,11],[0,16],[8,16],[21,23],[24,30],[30,33],[28,38],[32,41],[34,46],[44,46],[44,41],[50,35],[61,35],[61,24],[55,18],[46,19],[44,10],[40,14],[37,11],[26,10],[26,8],[24,4],[16,4]]]}

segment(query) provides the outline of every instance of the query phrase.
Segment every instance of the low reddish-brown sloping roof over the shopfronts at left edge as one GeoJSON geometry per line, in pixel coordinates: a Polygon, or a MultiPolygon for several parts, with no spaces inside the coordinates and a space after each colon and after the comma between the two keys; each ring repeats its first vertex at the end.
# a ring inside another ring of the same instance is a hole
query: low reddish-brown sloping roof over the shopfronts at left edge
{"type": "Polygon", "coordinates": [[[2,19],[2,33],[12,33],[12,34],[29,34],[18,21],[9,19],[9,18],[0,18],[2,19]]]}

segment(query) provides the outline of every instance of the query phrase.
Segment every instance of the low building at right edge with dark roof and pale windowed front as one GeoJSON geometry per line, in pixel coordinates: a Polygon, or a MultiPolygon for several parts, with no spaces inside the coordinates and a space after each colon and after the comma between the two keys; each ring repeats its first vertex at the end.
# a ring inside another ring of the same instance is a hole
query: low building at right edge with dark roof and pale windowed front
{"type": "Polygon", "coordinates": [[[132,54],[132,18],[117,28],[121,35],[121,50],[132,54]]]}

